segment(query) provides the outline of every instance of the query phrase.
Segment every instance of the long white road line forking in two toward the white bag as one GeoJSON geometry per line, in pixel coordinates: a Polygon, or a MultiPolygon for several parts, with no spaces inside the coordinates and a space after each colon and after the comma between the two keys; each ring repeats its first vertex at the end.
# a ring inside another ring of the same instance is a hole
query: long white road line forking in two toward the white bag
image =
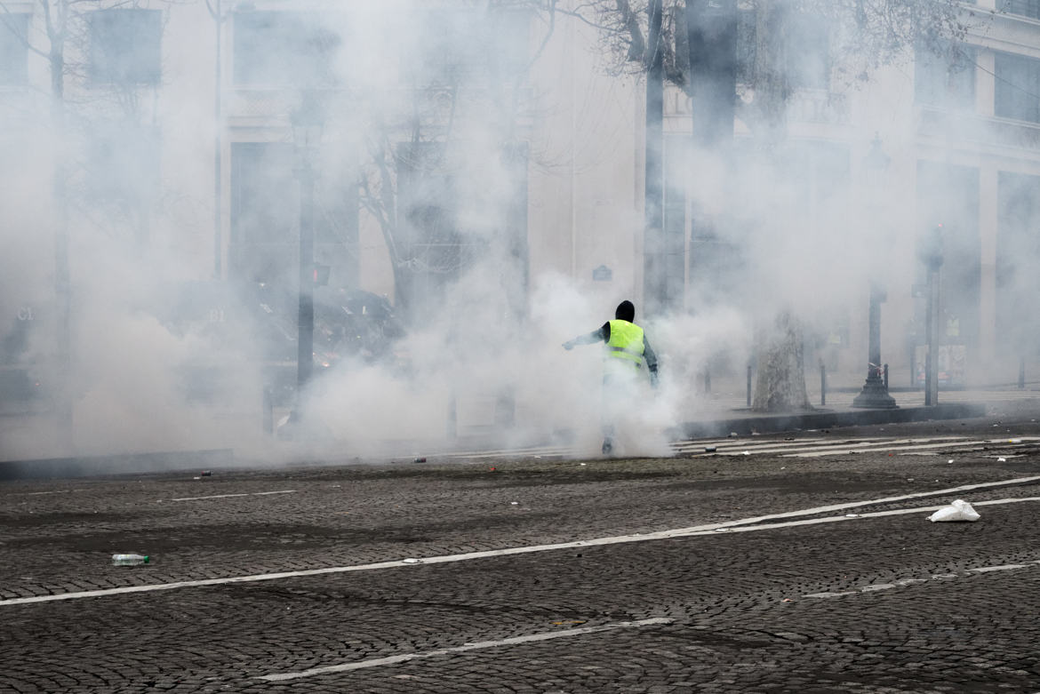
{"type": "MultiPolygon", "coordinates": [[[[691,528],[679,528],[675,530],[662,530],[655,533],[646,533],[638,535],[618,535],[613,537],[597,537],[588,540],[572,540],[570,542],[557,542],[554,544],[536,544],[518,548],[506,548],[504,550],[483,550],[479,552],[467,552],[463,554],[454,555],[442,555],[439,557],[423,557],[421,562],[416,564],[415,562],[410,562],[407,560],[389,560],[381,561],[371,564],[353,564],[349,566],[330,566],[327,568],[309,568],[309,569],[298,569],[294,571],[279,571],[276,573],[254,573],[250,576],[236,576],[226,579],[200,579],[196,581],[176,581],[173,583],[153,583],[142,586],[124,586],[121,588],[104,588],[99,590],[83,590],[70,593],[57,593],[53,595],[34,595],[32,597],[9,597],[0,600],[0,607],[5,605],[25,605],[29,603],[49,603],[52,600],[67,600],[67,599],[78,599],[81,597],[100,597],[103,595],[120,595],[123,593],[141,593],[150,592],[154,590],[173,590],[176,588],[193,588],[200,586],[216,586],[224,585],[228,583],[255,583],[258,581],[275,581],[279,579],[292,579],[302,578],[308,576],[322,576],[328,573],[345,573],[349,571],[368,571],[373,569],[382,568],[398,568],[401,566],[415,566],[415,565],[427,565],[427,564],[445,564],[457,561],[469,561],[471,559],[487,559],[490,557],[505,557],[512,555],[521,554],[534,554],[536,552],[551,552],[553,550],[572,550],[575,548],[588,548],[597,545],[607,545],[607,544],[621,544],[625,542],[646,542],[649,540],[658,539],[670,539],[675,537],[688,537],[693,535],[710,535],[714,534],[718,530],[724,529],[732,532],[753,532],[757,530],[769,530],[774,528],[785,528],[795,527],[798,525],[813,525],[820,523],[836,523],[838,520],[851,520],[848,515],[839,516],[829,516],[826,518],[811,518],[808,520],[798,520],[798,522],[787,522],[781,524],[773,525],[757,525],[763,524],[769,520],[780,520],[783,518],[794,518],[801,515],[818,515],[821,513],[831,513],[834,511],[844,511],[850,508],[859,508],[862,506],[875,506],[878,504],[892,504],[901,501],[907,501],[910,499],[922,499],[926,497],[937,497],[940,495],[959,495],[962,491],[970,491],[972,489],[985,489],[988,487],[998,487],[1007,486],[1010,484],[1026,484],[1029,482],[1036,482],[1040,480],[1040,476],[1035,477],[1018,477],[1011,480],[1000,480],[998,482],[981,482],[978,484],[962,484],[957,487],[948,487],[945,489],[936,489],[935,491],[917,491],[915,493],[903,495],[900,497],[885,497],[883,499],[872,499],[868,501],[854,501],[844,504],[832,504],[829,506],[817,506],[815,508],[807,508],[798,511],[787,511],[784,513],[771,513],[768,515],[759,515],[750,518],[742,518],[738,520],[727,520],[725,523],[709,523],[701,526],[693,526],[691,528]],[[753,526],[744,528],[742,526],[753,526]]],[[[973,502],[974,506],[985,506],[987,504],[996,503],[1014,503],[1017,501],[1040,501],[1040,498],[1031,497],[1028,499],[1009,499],[1000,500],[999,502],[973,502]]],[[[928,508],[914,508],[914,509],[896,509],[894,511],[877,511],[874,513],[862,513],[857,514],[855,519],[866,518],[866,517],[878,517],[883,515],[899,515],[903,513],[916,513],[925,510],[935,510],[941,508],[941,506],[931,506],[928,508]]]]}

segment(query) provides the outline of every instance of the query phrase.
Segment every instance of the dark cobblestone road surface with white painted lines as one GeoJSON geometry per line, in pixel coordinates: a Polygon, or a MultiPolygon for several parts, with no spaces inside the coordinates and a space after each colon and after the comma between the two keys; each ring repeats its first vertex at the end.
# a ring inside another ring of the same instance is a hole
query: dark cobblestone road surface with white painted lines
{"type": "Polygon", "coordinates": [[[1040,692],[1034,417],[5,481],[0,691],[1040,692]]]}

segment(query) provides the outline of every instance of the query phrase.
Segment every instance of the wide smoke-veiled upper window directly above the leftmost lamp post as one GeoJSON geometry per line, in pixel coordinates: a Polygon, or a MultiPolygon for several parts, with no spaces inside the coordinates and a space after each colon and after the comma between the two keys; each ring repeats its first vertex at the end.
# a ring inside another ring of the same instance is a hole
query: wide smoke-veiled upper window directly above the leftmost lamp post
{"type": "Polygon", "coordinates": [[[307,12],[235,15],[233,74],[243,86],[329,85],[342,39],[307,12]]]}

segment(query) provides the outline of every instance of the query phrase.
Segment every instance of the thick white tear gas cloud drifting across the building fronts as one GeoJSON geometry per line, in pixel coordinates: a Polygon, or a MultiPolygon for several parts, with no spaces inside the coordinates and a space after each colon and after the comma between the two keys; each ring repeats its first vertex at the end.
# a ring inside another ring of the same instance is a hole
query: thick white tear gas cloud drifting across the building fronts
{"type": "MultiPolygon", "coordinates": [[[[713,153],[688,152],[681,184],[670,185],[681,186],[695,220],[719,220],[717,240],[742,250],[719,259],[719,276],[691,270],[684,308],[646,323],[636,255],[642,82],[605,74],[593,29],[524,3],[451,12],[417,0],[332,11],[252,4],[222,10],[218,123],[215,47],[199,47],[215,36],[203,2],[141,5],[159,11],[149,16],[162,46],[154,81],[98,57],[103,39],[111,42],[103,56],[146,60],[147,47],[74,12],[62,121],[35,86],[0,105],[0,459],[235,448],[277,460],[304,445],[353,457],[399,452],[400,442],[434,446],[450,432],[502,445],[566,436],[592,453],[599,353],[561,343],[596,329],[625,298],[662,377],[631,407],[624,452],[667,454],[669,428],[716,407],[700,375],[739,373],[763,316],[792,308],[812,335],[836,317],[865,323],[867,285],[880,278],[890,288],[885,333],[902,333],[912,318],[903,295],[917,272],[917,230],[906,221],[915,201],[890,189],[872,199],[850,164],[882,131],[890,168],[915,165],[890,113],[847,118],[842,127],[862,136],[844,150],[798,140],[783,156],[749,156],[729,169],[711,163],[713,153]],[[301,101],[312,91],[320,99],[301,101]],[[302,113],[308,104],[315,111],[302,113]],[[322,124],[308,161],[316,260],[331,266],[328,286],[315,290],[316,371],[298,400],[297,188],[307,162],[290,113],[322,124]],[[67,371],[55,366],[61,229],[67,371]],[[601,264],[613,281],[587,279],[601,264]],[[263,430],[265,415],[277,427],[290,408],[302,416],[295,441],[263,430]]],[[[26,35],[45,46],[34,10],[26,35]]],[[[31,52],[26,82],[50,83],[31,52]]],[[[869,89],[844,99],[870,103],[869,89]]],[[[942,171],[929,204],[970,212],[970,201],[948,198],[942,171]]],[[[1035,214],[1025,205],[1019,214],[1035,214]]],[[[884,351],[903,349],[886,340],[884,351]]],[[[863,355],[865,344],[852,361],[863,355]]]]}

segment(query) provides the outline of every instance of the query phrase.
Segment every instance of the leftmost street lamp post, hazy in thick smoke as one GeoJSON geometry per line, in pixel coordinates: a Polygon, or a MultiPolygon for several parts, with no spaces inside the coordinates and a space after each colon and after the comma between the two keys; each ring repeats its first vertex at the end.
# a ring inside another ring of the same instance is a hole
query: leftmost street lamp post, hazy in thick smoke
{"type": "Polygon", "coordinates": [[[304,388],[314,365],[314,167],[313,150],[321,139],[323,116],[316,95],[305,91],[300,108],[290,116],[296,150],[294,174],[300,182],[300,332],[296,340],[296,408],[300,421],[304,388]]]}

